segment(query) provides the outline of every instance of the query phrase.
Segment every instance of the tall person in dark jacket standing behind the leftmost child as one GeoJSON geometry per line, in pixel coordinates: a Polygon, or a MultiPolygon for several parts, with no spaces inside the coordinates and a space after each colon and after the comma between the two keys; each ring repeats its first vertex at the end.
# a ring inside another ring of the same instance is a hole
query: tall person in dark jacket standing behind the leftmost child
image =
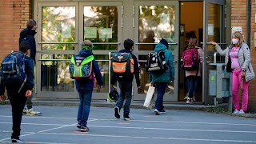
{"type": "MultiPolygon", "coordinates": [[[[26,41],[30,43],[30,58],[33,59],[34,64],[35,64],[35,54],[36,54],[36,44],[35,44],[35,39],[34,39],[34,35],[37,34],[37,32],[35,31],[37,29],[37,22],[35,22],[34,19],[29,19],[26,22],[26,28],[23,29],[21,31],[21,33],[19,34],[19,44],[21,44],[21,42],[26,41]]],[[[34,65],[35,66],[35,65],[34,65]]],[[[39,111],[35,111],[32,108],[32,97],[27,98],[26,101],[26,108],[24,108],[23,110],[23,114],[26,115],[40,115],[42,114],[39,111]]]]}

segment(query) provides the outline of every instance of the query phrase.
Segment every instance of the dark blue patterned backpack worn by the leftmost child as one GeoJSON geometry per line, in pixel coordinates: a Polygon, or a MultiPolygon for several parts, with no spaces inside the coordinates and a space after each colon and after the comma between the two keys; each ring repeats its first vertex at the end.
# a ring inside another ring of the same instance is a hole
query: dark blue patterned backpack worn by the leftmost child
{"type": "Polygon", "coordinates": [[[5,86],[20,86],[18,93],[26,82],[26,56],[21,51],[13,51],[2,60],[2,82],[5,86]]]}

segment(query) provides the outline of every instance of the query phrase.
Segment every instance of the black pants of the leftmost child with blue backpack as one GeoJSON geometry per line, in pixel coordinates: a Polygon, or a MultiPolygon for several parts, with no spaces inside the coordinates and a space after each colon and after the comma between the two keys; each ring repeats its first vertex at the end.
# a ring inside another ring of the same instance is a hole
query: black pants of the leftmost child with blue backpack
{"type": "Polygon", "coordinates": [[[26,91],[22,90],[18,94],[7,88],[7,94],[10,99],[13,115],[13,134],[11,135],[11,138],[19,139],[22,123],[22,110],[26,104],[26,91]]]}

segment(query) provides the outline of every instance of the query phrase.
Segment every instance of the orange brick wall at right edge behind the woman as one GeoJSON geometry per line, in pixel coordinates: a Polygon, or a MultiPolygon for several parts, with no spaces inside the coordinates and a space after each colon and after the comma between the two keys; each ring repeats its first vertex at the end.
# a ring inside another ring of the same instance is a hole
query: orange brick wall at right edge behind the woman
{"type": "MultiPolygon", "coordinates": [[[[231,27],[232,26],[241,26],[242,35],[246,38],[246,0],[232,0],[231,7],[231,27]]],[[[255,12],[256,12],[255,0],[251,1],[251,30],[250,30],[250,50],[251,50],[251,62],[254,67],[254,72],[256,72],[256,51],[254,47],[254,32],[255,29],[255,12]]],[[[250,81],[249,86],[249,103],[248,111],[250,113],[256,112],[256,80],[250,81]]]]}

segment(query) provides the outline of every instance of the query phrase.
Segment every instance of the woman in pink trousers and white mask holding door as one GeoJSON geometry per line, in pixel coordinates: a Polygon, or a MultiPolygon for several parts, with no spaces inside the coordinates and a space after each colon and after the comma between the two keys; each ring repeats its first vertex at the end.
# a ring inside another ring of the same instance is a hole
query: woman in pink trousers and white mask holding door
{"type": "Polygon", "coordinates": [[[216,42],[210,42],[220,55],[225,55],[225,69],[232,71],[232,100],[234,114],[244,114],[248,106],[248,87],[251,79],[255,78],[250,62],[250,48],[244,42],[240,32],[232,34],[230,46],[222,50],[216,42]],[[240,109],[238,90],[242,88],[242,108],[240,109]]]}

